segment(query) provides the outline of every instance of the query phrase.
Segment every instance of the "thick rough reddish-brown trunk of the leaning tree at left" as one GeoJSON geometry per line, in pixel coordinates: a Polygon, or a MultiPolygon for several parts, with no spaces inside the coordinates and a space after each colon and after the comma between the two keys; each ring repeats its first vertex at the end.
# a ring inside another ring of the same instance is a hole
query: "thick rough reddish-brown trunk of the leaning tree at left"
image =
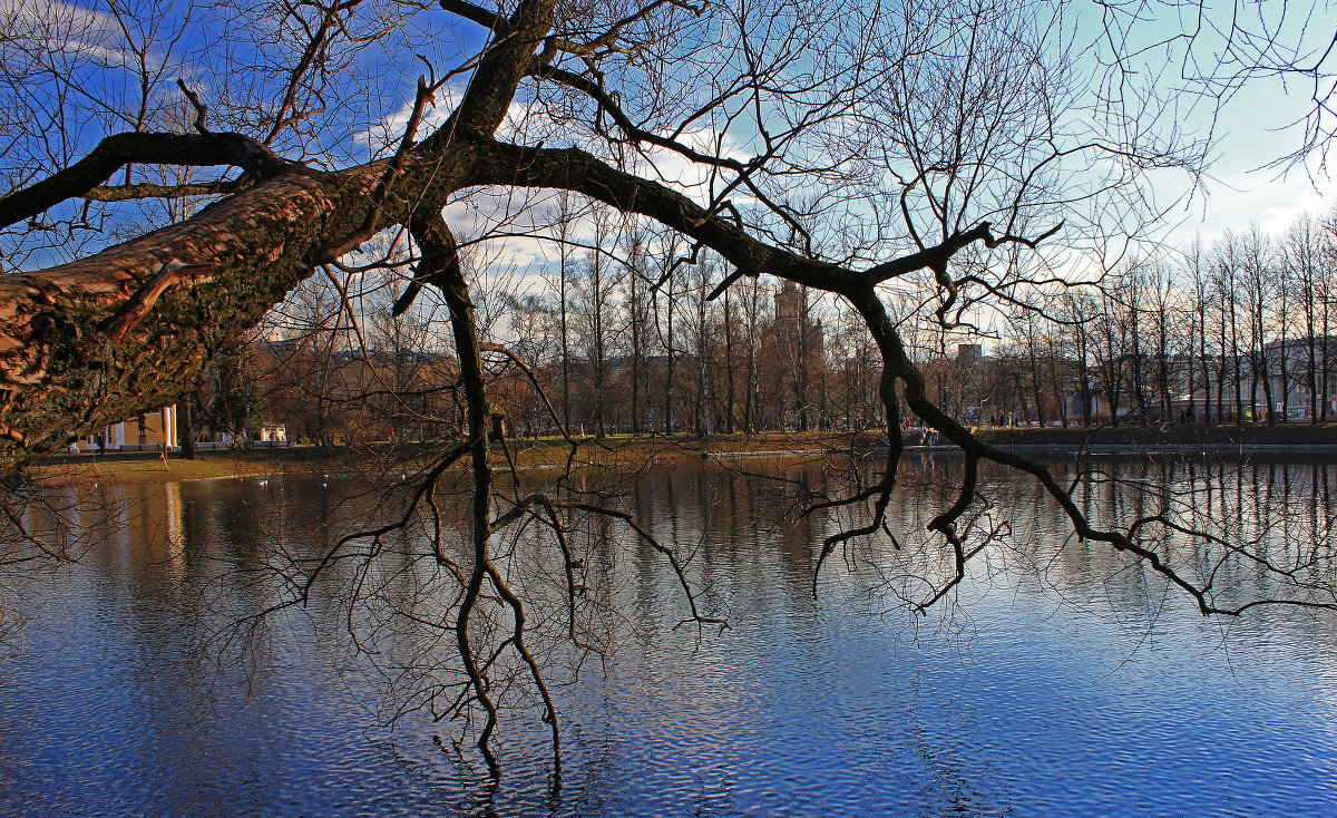
{"type": "Polygon", "coordinates": [[[171,402],[213,349],[329,258],[330,238],[365,233],[350,222],[372,184],[366,171],[281,176],[182,225],[0,278],[0,464],[171,402]]]}

